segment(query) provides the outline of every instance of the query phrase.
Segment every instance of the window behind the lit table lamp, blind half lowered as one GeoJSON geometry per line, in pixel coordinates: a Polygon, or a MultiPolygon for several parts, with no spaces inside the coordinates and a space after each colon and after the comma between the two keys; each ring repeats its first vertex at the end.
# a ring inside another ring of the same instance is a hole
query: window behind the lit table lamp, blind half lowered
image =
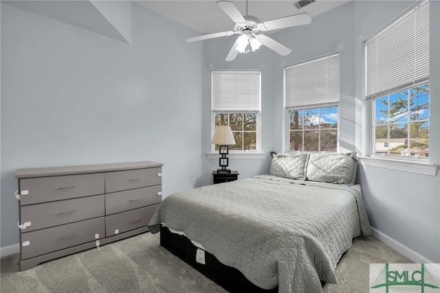
{"type": "MultiPolygon", "coordinates": [[[[235,145],[232,152],[259,152],[261,72],[212,72],[212,134],[215,127],[230,126],[235,145]]],[[[212,145],[212,152],[218,150],[212,145]]]]}

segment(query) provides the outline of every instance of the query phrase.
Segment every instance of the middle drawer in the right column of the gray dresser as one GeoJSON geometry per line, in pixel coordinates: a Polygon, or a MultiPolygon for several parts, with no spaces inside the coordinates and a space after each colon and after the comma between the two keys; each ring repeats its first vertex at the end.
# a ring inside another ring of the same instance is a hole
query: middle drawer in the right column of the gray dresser
{"type": "Polygon", "coordinates": [[[131,209],[159,204],[162,201],[162,185],[113,192],[105,195],[105,214],[120,213],[131,209]]]}

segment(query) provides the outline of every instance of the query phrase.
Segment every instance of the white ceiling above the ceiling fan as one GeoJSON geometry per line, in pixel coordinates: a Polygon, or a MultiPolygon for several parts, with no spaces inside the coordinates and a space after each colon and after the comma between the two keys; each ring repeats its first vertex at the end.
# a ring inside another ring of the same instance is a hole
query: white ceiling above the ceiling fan
{"type": "MultiPolygon", "coordinates": [[[[136,1],[146,8],[153,10],[163,16],[173,19],[177,23],[192,28],[200,34],[224,32],[232,30],[232,20],[217,6],[217,0],[199,1],[136,1]]],[[[232,1],[241,14],[246,14],[246,2],[244,0],[232,1]]],[[[294,3],[296,1],[267,1],[251,0],[248,3],[248,12],[263,21],[279,19],[284,16],[307,12],[312,17],[338,7],[350,0],[316,0],[304,8],[298,10],[294,3]]]]}

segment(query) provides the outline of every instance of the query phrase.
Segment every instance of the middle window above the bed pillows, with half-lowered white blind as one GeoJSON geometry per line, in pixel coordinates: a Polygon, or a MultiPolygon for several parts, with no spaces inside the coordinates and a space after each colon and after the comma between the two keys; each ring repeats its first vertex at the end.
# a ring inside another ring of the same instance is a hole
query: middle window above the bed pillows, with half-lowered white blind
{"type": "Polygon", "coordinates": [[[288,151],[338,151],[339,54],[285,68],[288,151]]]}

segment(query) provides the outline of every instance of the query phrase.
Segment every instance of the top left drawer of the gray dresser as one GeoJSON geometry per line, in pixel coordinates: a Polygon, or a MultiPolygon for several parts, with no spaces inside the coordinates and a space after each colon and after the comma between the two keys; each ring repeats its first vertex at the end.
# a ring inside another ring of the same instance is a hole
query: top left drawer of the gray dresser
{"type": "Polygon", "coordinates": [[[104,194],[104,174],[81,174],[39,178],[21,178],[20,204],[36,204],[104,194]],[[28,191],[23,195],[23,191],[28,191]]]}

